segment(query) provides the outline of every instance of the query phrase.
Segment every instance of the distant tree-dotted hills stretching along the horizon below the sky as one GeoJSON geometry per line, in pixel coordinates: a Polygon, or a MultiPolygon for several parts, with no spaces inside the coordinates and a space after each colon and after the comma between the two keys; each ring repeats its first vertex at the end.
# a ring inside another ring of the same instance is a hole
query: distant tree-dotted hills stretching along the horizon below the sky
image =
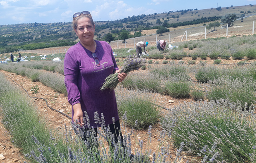
{"type": "MultiPolygon", "coordinates": [[[[212,21],[220,21],[225,14],[236,14],[239,18],[253,15],[256,5],[229,6],[210,9],[185,9],[165,13],[142,14],[128,16],[116,21],[96,21],[95,39],[104,40],[104,36],[111,33],[115,40],[121,39],[120,33],[125,30],[129,37],[155,34],[161,26],[175,30],[177,27],[189,25],[207,25],[212,21]],[[167,26],[168,25],[168,26],[167,26]],[[150,32],[152,31],[152,33],[150,32]]],[[[185,27],[184,27],[185,28],[185,27]]],[[[24,23],[16,25],[0,25],[0,53],[9,53],[18,49],[30,50],[57,46],[70,46],[77,42],[71,22],[59,23],[24,23]]]]}

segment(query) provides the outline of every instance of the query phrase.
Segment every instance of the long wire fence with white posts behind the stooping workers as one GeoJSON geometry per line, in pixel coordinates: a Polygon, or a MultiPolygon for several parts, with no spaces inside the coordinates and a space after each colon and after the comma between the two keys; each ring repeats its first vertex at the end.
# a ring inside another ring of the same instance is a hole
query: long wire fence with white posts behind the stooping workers
{"type": "MultiPolygon", "coordinates": [[[[254,24],[255,21],[251,22],[251,25],[246,26],[246,30],[241,30],[243,26],[233,26],[228,27],[226,25],[222,25],[220,27],[219,35],[221,36],[232,36],[239,33],[239,35],[250,35],[254,34],[254,24]]],[[[110,46],[113,49],[120,48],[135,48],[136,43],[139,41],[148,41],[149,45],[156,45],[158,40],[167,40],[169,43],[186,41],[186,40],[201,40],[214,37],[214,33],[210,33],[209,30],[206,29],[206,26],[199,27],[191,27],[185,29],[172,30],[170,32],[166,32],[163,35],[151,34],[145,35],[137,38],[130,38],[124,40],[111,41],[110,46]]]]}

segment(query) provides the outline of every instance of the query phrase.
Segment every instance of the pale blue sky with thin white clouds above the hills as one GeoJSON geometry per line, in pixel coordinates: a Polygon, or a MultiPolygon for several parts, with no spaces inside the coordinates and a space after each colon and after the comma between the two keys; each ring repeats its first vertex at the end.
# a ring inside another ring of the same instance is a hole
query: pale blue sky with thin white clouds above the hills
{"type": "Polygon", "coordinates": [[[72,15],[89,11],[94,21],[142,14],[256,5],[256,0],[0,0],[0,25],[71,22],[72,15]]]}

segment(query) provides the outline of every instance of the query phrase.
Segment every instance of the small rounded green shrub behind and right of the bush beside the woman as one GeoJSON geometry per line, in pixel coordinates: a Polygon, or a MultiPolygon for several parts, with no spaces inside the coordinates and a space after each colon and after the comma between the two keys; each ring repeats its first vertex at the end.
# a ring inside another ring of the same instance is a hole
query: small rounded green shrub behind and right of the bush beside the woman
{"type": "Polygon", "coordinates": [[[168,81],[165,83],[165,93],[173,98],[190,97],[190,85],[187,82],[168,81]]]}

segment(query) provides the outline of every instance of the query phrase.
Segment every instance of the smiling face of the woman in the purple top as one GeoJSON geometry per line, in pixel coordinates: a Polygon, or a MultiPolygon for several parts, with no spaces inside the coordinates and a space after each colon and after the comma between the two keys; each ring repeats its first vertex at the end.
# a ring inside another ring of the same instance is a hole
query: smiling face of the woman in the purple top
{"type": "Polygon", "coordinates": [[[84,17],[77,21],[76,35],[84,45],[90,45],[93,42],[95,26],[92,25],[89,18],[84,17]]]}

